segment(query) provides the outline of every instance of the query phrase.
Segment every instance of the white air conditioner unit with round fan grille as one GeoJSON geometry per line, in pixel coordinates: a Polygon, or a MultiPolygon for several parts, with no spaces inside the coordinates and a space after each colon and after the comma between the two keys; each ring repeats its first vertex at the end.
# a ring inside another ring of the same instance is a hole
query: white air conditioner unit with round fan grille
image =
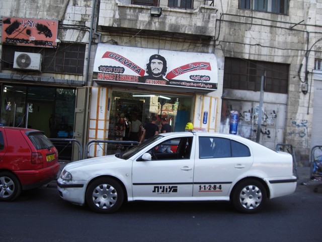
{"type": "Polygon", "coordinates": [[[15,52],[14,68],[41,71],[42,55],[39,53],[15,52]]]}

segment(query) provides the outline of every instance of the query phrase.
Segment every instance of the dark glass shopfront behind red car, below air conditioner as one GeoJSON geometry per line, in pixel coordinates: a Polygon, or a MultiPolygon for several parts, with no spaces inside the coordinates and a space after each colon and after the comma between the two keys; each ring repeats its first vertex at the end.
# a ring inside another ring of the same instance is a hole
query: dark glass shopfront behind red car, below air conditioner
{"type": "Polygon", "coordinates": [[[50,138],[72,138],[74,109],[74,89],[4,85],[0,124],[27,125],[50,138]]]}

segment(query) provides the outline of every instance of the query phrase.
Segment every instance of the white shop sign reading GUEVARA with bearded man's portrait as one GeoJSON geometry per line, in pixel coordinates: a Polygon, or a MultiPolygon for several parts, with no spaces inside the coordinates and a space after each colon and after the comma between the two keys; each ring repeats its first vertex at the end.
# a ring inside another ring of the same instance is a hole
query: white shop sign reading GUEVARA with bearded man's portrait
{"type": "Polygon", "coordinates": [[[93,79],[214,91],[218,70],[214,54],[98,44],[93,79]]]}

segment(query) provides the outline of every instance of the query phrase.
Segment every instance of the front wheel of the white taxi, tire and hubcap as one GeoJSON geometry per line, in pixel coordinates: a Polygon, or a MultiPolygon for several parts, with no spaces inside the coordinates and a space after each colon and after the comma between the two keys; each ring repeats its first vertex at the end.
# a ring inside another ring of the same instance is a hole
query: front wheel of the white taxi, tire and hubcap
{"type": "Polygon", "coordinates": [[[98,178],[86,191],[86,202],[97,213],[114,213],[122,206],[123,201],[124,191],[113,178],[98,178]]]}

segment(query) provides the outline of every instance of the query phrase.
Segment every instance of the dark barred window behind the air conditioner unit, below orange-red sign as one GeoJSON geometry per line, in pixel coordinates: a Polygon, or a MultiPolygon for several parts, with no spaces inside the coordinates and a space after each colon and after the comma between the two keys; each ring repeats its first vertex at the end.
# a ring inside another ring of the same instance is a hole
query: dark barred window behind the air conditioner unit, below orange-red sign
{"type": "Polygon", "coordinates": [[[85,44],[63,44],[57,48],[3,45],[3,69],[13,69],[15,51],[41,53],[42,72],[83,75],[85,44]]]}

